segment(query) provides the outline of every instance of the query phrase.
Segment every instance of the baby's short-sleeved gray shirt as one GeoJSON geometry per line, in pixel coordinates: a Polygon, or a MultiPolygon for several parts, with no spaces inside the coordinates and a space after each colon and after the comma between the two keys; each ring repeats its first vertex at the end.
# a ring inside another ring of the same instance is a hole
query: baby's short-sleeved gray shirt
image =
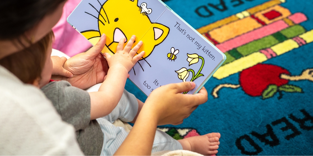
{"type": "Polygon", "coordinates": [[[85,155],[100,155],[103,133],[96,120],[90,120],[90,96],[67,81],[53,81],[41,88],[62,120],[72,124],[85,155]]]}

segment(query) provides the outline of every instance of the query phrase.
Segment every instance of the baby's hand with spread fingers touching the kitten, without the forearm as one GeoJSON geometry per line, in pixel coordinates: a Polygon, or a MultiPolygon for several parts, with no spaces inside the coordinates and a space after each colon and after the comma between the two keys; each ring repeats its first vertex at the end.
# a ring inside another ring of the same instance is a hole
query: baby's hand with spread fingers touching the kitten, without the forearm
{"type": "Polygon", "coordinates": [[[138,55],[135,56],[139,48],[142,46],[142,41],[139,41],[136,46],[134,46],[133,49],[131,49],[134,41],[136,39],[136,36],[133,35],[128,43],[126,44],[125,48],[124,47],[124,42],[125,38],[121,38],[119,44],[116,47],[116,53],[111,56],[108,53],[104,53],[104,56],[106,60],[108,61],[109,67],[111,68],[112,66],[124,66],[129,72],[133,66],[137,63],[137,61],[145,54],[144,51],[139,53],[138,55]]]}

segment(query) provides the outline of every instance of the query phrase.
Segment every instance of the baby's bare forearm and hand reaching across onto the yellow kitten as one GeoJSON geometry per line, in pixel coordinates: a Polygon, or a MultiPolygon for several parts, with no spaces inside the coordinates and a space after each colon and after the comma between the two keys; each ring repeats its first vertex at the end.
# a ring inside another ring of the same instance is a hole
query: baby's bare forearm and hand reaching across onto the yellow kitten
{"type": "MultiPolygon", "coordinates": [[[[90,102],[90,119],[97,119],[106,116],[116,107],[124,91],[128,72],[136,62],[144,55],[144,51],[135,56],[136,52],[142,45],[142,41],[131,49],[136,36],[132,36],[127,45],[124,47],[125,38],[122,38],[116,48],[113,56],[105,53],[109,70],[105,81],[97,92],[91,92],[90,102]]],[[[102,36],[100,40],[105,40],[102,36]]]]}

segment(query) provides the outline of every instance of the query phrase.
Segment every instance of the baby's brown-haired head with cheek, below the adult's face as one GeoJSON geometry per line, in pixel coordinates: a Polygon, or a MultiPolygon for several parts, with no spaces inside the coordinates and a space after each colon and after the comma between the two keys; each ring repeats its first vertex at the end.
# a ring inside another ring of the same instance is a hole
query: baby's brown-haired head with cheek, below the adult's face
{"type": "Polygon", "coordinates": [[[0,65],[24,83],[43,87],[49,83],[52,74],[50,55],[53,37],[51,31],[30,47],[1,59],[0,65]]]}

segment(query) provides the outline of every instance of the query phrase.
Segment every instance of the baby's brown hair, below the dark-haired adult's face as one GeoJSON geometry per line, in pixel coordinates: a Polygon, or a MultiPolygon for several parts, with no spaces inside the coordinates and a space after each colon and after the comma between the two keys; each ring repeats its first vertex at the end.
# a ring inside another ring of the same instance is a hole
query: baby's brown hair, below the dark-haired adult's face
{"type": "Polygon", "coordinates": [[[0,60],[0,65],[12,72],[24,83],[33,84],[41,78],[44,69],[49,44],[54,37],[49,32],[44,38],[22,51],[15,52],[0,60]]]}

